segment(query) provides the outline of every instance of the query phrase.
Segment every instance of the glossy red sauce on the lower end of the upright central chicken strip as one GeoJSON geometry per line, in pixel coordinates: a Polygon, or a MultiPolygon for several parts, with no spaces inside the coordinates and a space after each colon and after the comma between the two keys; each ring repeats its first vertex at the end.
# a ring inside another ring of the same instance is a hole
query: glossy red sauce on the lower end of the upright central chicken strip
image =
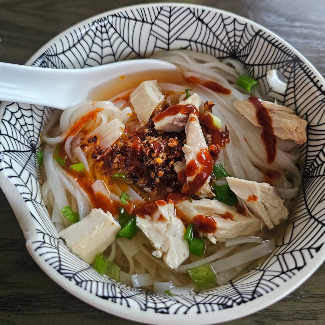
{"type": "Polygon", "coordinates": [[[194,195],[205,183],[213,170],[213,159],[206,148],[202,148],[196,155],[197,161],[201,164],[192,181],[188,181],[182,188],[182,193],[194,195]]]}

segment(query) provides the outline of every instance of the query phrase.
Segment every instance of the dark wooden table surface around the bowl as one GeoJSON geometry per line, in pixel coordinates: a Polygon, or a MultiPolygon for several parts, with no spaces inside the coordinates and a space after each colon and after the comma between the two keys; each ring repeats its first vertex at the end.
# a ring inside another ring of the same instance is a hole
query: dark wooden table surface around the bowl
{"type": "MultiPolygon", "coordinates": [[[[152,1],[140,1],[152,2],[152,1]]],[[[178,1],[183,2],[183,1],[178,1]]],[[[324,0],[187,0],[232,11],[277,33],[325,75],[324,0]]],[[[0,0],[0,60],[24,64],[73,24],[136,0],[0,0]]],[[[1,71],[0,71],[1,73],[1,71]]],[[[5,195],[0,193],[0,324],[137,324],[86,305],[36,265],[5,195]]],[[[299,289],[238,324],[325,324],[325,264],[299,289]]]]}

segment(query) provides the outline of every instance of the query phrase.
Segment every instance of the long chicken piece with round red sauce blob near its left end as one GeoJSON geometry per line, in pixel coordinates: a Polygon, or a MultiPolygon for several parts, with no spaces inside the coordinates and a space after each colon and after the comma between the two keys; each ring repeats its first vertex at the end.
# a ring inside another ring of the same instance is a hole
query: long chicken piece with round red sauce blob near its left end
{"type": "Polygon", "coordinates": [[[196,230],[204,229],[205,224],[208,227],[214,225],[215,230],[211,232],[198,230],[200,236],[207,237],[213,243],[240,235],[252,235],[262,228],[261,220],[249,211],[245,215],[240,214],[236,208],[218,200],[185,200],[176,203],[175,207],[177,214],[193,222],[196,230]]]}

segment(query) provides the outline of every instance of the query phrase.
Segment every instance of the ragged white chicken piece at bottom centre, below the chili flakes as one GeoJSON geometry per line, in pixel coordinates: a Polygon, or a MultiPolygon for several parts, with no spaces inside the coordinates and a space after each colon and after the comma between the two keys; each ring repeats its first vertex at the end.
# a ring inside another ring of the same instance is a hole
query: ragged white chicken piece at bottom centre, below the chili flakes
{"type": "Polygon", "coordinates": [[[148,220],[136,217],[136,225],[150,240],[155,251],[152,255],[160,258],[175,270],[189,255],[188,243],[184,240],[185,227],[175,214],[174,204],[157,204],[163,220],[148,220]]]}

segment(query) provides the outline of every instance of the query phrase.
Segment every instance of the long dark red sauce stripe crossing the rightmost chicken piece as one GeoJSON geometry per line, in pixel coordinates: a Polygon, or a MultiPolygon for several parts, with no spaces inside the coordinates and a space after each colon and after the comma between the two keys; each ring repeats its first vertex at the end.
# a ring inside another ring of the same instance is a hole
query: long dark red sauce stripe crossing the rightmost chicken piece
{"type": "Polygon", "coordinates": [[[265,146],[266,162],[270,164],[275,160],[277,143],[277,140],[274,136],[271,117],[258,98],[250,97],[248,100],[254,105],[256,109],[257,121],[263,128],[261,138],[265,146]]]}

